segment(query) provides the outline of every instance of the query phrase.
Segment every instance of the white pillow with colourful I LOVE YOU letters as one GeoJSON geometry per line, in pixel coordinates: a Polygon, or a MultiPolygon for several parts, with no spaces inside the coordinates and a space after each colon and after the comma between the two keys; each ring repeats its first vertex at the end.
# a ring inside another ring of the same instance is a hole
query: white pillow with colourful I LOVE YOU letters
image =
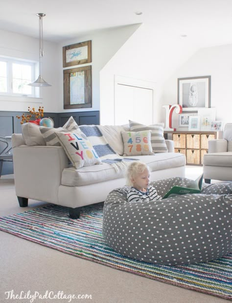
{"type": "Polygon", "coordinates": [[[101,163],[86,135],[80,131],[55,132],[68,158],[76,168],[101,163]]]}

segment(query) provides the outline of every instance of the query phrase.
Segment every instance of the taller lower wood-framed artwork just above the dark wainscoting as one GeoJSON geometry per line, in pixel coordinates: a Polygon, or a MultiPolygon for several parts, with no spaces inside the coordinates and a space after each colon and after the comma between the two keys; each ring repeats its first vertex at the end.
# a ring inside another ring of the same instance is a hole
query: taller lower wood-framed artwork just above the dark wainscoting
{"type": "Polygon", "coordinates": [[[91,66],[63,70],[64,109],[92,107],[91,66]]]}

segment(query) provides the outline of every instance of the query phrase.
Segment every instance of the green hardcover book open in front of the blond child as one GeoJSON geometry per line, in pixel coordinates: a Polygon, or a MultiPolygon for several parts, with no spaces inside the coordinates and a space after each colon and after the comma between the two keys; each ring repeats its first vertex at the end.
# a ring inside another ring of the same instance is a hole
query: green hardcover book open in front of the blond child
{"type": "Polygon", "coordinates": [[[167,197],[177,196],[177,195],[186,195],[188,193],[200,193],[201,186],[203,182],[203,174],[200,175],[192,185],[192,187],[185,186],[173,186],[163,197],[162,199],[166,199],[167,197]]]}

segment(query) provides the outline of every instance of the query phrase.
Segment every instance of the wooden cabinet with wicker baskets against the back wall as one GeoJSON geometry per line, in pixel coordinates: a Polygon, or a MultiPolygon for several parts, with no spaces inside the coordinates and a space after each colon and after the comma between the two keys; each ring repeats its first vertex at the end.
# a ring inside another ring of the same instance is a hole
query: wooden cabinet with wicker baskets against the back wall
{"type": "Polygon", "coordinates": [[[172,133],[176,153],[186,155],[186,164],[202,165],[208,153],[209,140],[220,139],[222,132],[213,131],[176,131],[172,133]]]}

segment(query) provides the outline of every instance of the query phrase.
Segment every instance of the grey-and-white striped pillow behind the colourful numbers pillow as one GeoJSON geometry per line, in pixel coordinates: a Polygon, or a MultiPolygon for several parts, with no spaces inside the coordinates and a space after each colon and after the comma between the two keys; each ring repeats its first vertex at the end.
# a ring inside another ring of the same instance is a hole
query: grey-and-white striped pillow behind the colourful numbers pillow
{"type": "Polygon", "coordinates": [[[142,130],[151,130],[151,146],[154,153],[167,153],[167,145],[163,137],[163,123],[153,125],[143,125],[135,121],[129,120],[130,130],[139,132],[142,130]]]}

